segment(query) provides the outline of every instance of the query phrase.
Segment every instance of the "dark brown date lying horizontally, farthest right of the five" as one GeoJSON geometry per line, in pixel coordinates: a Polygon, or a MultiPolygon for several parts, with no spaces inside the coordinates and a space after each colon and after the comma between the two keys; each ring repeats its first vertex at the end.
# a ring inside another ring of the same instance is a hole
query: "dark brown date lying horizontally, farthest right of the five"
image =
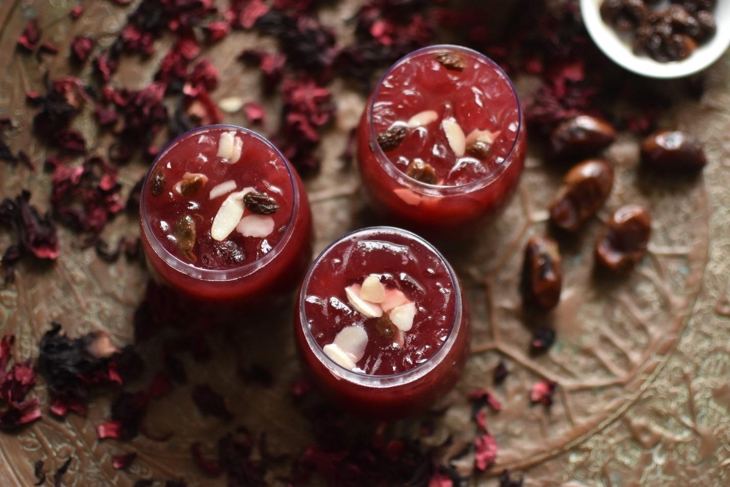
{"type": "Polygon", "coordinates": [[[707,164],[702,144],[678,130],[659,130],[641,145],[642,163],[662,171],[699,171],[707,164]]]}

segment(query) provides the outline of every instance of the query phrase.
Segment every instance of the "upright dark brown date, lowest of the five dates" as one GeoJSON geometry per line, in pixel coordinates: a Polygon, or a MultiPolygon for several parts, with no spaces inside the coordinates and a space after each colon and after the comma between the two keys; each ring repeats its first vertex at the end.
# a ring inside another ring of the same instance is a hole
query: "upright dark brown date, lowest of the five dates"
{"type": "Polygon", "coordinates": [[[563,267],[558,244],[550,237],[532,237],[525,247],[522,296],[525,303],[555,308],[563,286],[563,267]]]}

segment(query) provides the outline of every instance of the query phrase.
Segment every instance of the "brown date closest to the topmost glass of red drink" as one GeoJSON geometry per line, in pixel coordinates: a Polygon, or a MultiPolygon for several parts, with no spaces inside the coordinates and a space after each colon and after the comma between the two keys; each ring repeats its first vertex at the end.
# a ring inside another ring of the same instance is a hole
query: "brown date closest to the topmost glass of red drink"
{"type": "Polygon", "coordinates": [[[616,130],[605,120],[579,115],[564,120],[550,134],[555,157],[583,157],[608,147],[616,138],[616,130]]]}

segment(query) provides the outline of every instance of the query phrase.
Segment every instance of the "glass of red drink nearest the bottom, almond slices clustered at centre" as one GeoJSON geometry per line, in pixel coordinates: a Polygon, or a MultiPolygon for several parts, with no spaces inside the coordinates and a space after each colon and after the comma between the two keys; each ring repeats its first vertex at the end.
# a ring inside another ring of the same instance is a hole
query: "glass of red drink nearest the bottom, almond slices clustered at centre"
{"type": "Polygon", "coordinates": [[[345,235],[301,287],[301,356],[320,389],[351,412],[399,418],[425,410],[461,375],[468,336],[456,274],[405,230],[345,235]]]}

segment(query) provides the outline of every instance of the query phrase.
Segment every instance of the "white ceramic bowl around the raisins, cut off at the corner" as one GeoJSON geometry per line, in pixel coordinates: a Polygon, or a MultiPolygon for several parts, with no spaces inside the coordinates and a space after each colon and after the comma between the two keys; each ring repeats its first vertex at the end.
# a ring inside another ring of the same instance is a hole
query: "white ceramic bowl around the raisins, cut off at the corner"
{"type": "Polygon", "coordinates": [[[689,76],[717,61],[730,46],[730,0],[718,0],[715,6],[715,22],[718,26],[715,36],[697,47],[687,59],[669,63],[654,61],[645,54],[634,54],[631,50],[631,36],[618,33],[602,20],[599,12],[602,1],[580,0],[585,28],[605,55],[618,65],[642,76],[664,79],[689,76]]]}

